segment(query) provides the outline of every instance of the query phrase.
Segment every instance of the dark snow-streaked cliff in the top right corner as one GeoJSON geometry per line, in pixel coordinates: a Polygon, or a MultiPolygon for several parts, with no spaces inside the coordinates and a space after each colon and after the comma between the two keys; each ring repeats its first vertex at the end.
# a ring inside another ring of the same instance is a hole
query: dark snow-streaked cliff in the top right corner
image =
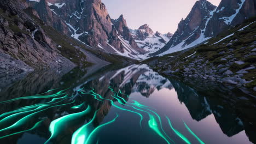
{"type": "Polygon", "coordinates": [[[253,0],[223,0],[206,28],[208,37],[215,36],[230,26],[236,26],[256,15],[256,2],[253,0]]]}

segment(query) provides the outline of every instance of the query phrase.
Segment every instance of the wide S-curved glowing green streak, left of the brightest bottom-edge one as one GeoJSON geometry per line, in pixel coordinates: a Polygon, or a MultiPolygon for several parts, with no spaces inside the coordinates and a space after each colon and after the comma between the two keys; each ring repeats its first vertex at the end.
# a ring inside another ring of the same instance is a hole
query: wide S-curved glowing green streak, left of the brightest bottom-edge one
{"type": "MultiPolygon", "coordinates": [[[[82,106],[83,106],[83,104],[82,104],[82,106]]],[[[81,107],[81,105],[78,105],[77,107],[81,107]]],[[[77,109],[77,108],[75,108],[75,109],[77,109]]],[[[65,128],[65,127],[63,127],[63,126],[65,126],[65,124],[67,124],[68,122],[74,121],[75,119],[79,119],[79,117],[82,117],[82,116],[88,114],[90,111],[91,111],[91,107],[88,106],[87,109],[82,112],[72,113],[70,115],[66,115],[66,116],[60,117],[58,119],[55,119],[53,122],[51,122],[50,127],[49,127],[51,136],[45,143],[48,143],[51,139],[56,137],[60,133],[60,131],[62,131],[62,129],[65,128]]]]}

